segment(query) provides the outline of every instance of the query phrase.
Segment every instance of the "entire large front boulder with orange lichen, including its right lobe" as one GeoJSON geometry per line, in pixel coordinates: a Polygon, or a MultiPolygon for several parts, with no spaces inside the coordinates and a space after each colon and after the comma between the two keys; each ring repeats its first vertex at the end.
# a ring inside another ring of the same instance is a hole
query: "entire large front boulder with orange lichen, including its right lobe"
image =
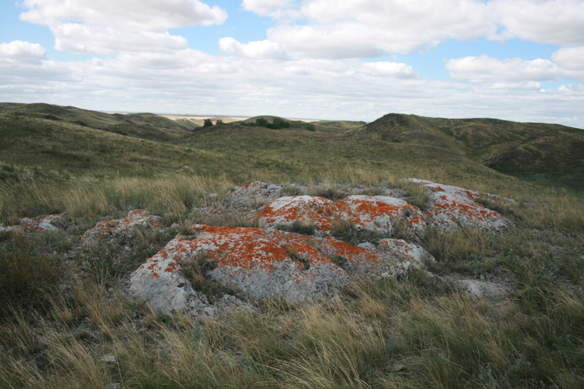
{"type": "Polygon", "coordinates": [[[213,314],[217,306],[194,291],[182,271],[181,265],[201,258],[215,264],[207,277],[242,297],[281,296],[290,302],[329,299],[351,281],[350,274],[390,278],[423,267],[432,258],[416,254],[420,247],[396,239],[385,240],[382,249],[370,249],[330,236],[267,228],[204,224],[192,228],[197,231],[195,239],[176,236],[131,274],[130,291],[135,298],[162,312],[213,314]]]}

